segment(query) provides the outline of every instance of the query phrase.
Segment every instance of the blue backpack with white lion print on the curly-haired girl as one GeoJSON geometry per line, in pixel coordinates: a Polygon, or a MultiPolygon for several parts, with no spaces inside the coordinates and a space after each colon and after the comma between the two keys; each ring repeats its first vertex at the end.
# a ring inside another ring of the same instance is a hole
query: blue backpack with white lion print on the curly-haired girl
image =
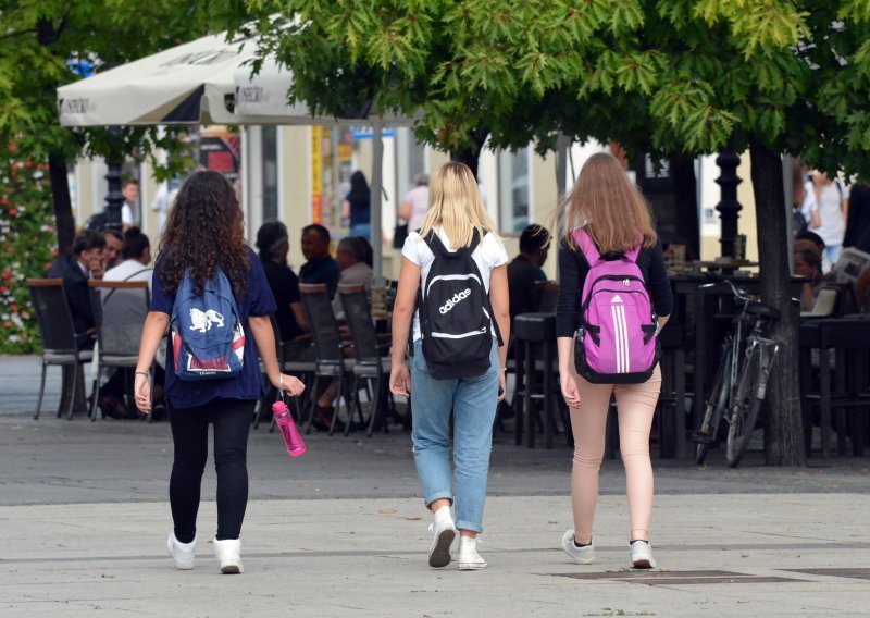
{"type": "Polygon", "coordinates": [[[220,380],[241,371],[245,331],[222,270],[206,282],[200,295],[194,294],[190,269],[185,271],[170,327],[175,375],[181,380],[220,380]]]}

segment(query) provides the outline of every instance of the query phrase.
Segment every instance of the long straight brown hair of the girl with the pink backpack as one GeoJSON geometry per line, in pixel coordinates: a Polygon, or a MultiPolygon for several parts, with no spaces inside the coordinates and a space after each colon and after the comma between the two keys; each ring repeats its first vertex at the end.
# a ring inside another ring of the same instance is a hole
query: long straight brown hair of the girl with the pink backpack
{"type": "Polygon", "coordinates": [[[580,170],[568,200],[564,242],[576,248],[572,230],[584,228],[604,251],[651,247],[658,235],[646,201],[613,157],[598,152],[580,170]]]}

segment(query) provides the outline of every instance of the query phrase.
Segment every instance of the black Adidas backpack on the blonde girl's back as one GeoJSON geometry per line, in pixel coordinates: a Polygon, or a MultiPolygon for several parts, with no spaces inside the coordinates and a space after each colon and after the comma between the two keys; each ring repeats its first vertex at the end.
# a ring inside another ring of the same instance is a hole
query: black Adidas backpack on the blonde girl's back
{"type": "Polygon", "coordinates": [[[435,256],[418,294],[426,364],[438,380],[483,375],[493,349],[490,325],[498,344],[502,342],[483,276],[471,257],[478,234],[475,231],[471,245],[456,251],[448,251],[434,231],[424,240],[435,256]]]}

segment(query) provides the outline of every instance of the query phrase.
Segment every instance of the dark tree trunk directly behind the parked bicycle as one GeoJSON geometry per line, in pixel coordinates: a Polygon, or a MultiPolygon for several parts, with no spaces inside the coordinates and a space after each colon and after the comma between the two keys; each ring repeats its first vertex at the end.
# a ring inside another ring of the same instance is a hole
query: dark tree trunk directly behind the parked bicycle
{"type": "Polygon", "coordinates": [[[769,466],[805,466],[800,415],[799,307],[792,301],[788,239],[785,221],[782,161],[767,146],[753,141],[753,193],[757,218],[761,299],[782,318],[771,334],[780,344],[768,380],[765,401],[765,455],[769,466]]]}

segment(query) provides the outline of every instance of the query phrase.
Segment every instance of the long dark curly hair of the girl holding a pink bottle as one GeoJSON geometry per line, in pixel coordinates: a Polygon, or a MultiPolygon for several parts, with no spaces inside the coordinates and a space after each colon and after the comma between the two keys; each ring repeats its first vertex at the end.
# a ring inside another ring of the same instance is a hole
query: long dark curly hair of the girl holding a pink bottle
{"type": "Polygon", "coordinates": [[[182,185],[160,240],[160,279],[174,294],[190,269],[195,294],[217,268],[224,271],[236,298],[248,289],[250,259],[244,215],[236,191],[217,172],[196,172],[182,185]]]}

